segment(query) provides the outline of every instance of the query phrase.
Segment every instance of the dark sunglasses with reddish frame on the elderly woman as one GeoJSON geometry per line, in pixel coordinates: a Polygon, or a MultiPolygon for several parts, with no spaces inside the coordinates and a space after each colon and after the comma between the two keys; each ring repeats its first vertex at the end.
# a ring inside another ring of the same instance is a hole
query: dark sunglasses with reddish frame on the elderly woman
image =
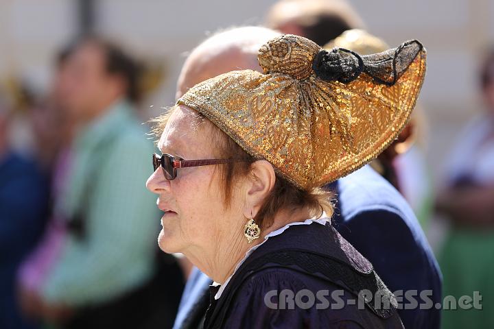
{"type": "Polygon", "coordinates": [[[167,180],[174,180],[176,178],[176,169],[178,168],[190,168],[190,167],[200,167],[209,166],[211,164],[222,164],[229,162],[237,162],[244,160],[237,159],[210,159],[210,160],[183,160],[182,158],[176,158],[170,156],[169,154],[163,154],[163,156],[158,156],[158,154],[153,154],[153,167],[154,171],[161,167],[163,174],[167,180]]]}

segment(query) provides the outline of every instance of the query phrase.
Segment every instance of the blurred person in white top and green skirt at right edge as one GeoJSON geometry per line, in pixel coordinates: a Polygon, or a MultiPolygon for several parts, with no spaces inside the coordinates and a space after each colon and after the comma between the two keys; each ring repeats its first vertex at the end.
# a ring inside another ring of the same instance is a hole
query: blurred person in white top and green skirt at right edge
{"type": "Polygon", "coordinates": [[[494,49],[480,71],[485,110],[460,133],[436,209],[451,223],[440,255],[445,295],[482,295],[483,310],[444,310],[443,328],[494,328],[494,49]]]}

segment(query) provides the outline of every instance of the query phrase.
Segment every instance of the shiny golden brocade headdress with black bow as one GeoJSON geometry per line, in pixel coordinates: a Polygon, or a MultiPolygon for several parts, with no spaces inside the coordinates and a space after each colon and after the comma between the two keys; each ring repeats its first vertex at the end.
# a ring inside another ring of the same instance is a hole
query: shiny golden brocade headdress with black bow
{"type": "Polygon", "coordinates": [[[250,155],[299,188],[333,182],[399,134],[425,75],[416,40],[360,56],[286,34],[259,49],[264,70],[232,71],[193,86],[177,104],[202,113],[250,155]]]}

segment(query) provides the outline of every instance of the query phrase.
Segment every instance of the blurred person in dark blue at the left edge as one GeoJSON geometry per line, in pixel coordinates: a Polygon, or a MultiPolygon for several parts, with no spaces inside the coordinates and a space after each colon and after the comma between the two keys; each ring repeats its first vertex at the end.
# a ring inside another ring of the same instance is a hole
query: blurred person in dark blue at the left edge
{"type": "Polygon", "coordinates": [[[38,241],[47,216],[48,180],[33,158],[10,148],[14,104],[0,94],[0,328],[35,328],[16,302],[16,272],[38,241]]]}

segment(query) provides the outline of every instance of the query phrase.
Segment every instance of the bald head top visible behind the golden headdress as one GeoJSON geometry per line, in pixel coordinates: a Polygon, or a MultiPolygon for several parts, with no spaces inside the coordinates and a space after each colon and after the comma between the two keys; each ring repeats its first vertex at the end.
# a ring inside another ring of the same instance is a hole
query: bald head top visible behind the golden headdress
{"type": "Polygon", "coordinates": [[[176,98],[199,82],[222,73],[251,69],[262,71],[257,51],[279,32],[266,27],[237,27],[217,33],[193,49],[180,71],[176,98]]]}

